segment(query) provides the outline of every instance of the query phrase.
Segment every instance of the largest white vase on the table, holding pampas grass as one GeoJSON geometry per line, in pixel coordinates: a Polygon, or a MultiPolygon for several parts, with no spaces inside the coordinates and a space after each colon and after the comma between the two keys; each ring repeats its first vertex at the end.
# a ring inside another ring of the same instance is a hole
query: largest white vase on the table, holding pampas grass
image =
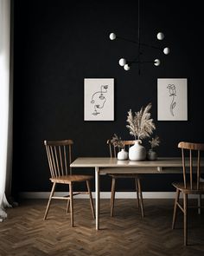
{"type": "Polygon", "coordinates": [[[135,144],[129,148],[129,159],[131,161],[142,161],[146,158],[146,149],[141,143],[141,140],[137,140],[135,144]]]}

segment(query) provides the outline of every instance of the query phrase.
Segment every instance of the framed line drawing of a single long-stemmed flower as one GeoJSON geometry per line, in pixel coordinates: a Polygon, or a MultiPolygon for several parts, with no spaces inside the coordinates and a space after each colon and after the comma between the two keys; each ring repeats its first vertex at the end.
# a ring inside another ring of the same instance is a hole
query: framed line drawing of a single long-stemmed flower
{"type": "Polygon", "coordinates": [[[157,79],[158,121],[188,121],[187,78],[157,79]]]}

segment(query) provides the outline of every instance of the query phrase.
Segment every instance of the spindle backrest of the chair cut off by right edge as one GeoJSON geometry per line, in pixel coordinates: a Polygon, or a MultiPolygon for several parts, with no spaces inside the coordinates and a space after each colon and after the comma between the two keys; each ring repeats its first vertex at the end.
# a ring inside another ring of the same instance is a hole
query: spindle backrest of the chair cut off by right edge
{"type": "Polygon", "coordinates": [[[182,148],[182,170],[184,187],[187,188],[189,185],[190,189],[199,189],[201,178],[201,151],[204,151],[204,144],[182,141],[178,144],[178,148],[182,148]],[[189,179],[187,179],[186,161],[189,163],[189,179]],[[193,175],[193,168],[196,169],[196,175],[193,175]],[[193,187],[194,181],[196,187],[193,187]]]}

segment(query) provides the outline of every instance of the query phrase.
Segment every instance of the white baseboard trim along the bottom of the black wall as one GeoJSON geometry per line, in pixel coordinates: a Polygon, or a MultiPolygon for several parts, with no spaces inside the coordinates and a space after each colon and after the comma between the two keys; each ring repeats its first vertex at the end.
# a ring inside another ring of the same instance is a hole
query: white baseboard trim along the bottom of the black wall
{"type": "MultiPolygon", "coordinates": [[[[22,199],[48,199],[49,192],[22,192],[20,193],[20,198],[22,199]]],[[[56,192],[54,195],[56,196],[64,196],[67,195],[66,192],[56,192]]],[[[136,193],[134,192],[116,192],[117,199],[135,199],[136,193]]],[[[95,198],[95,193],[92,192],[92,197],[95,198]]],[[[197,198],[196,195],[190,195],[189,198],[197,198]]],[[[74,198],[85,198],[88,199],[88,194],[78,194],[75,195],[74,198]]],[[[101,192],[101,199],[110,199],[110,192],[101,192]]],[[[143,199],[174,199],[175,192],[143,192],[143,199]]]]}

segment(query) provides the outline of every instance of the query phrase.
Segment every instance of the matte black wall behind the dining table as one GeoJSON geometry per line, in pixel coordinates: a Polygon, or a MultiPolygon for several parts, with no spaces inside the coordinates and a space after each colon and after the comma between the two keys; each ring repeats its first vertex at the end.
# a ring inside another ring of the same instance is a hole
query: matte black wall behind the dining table
{"type": "MultiPolygon", "coordinates": [[[[73,158],[108,156],[105,143],[114,133],[132,139],[127,111],[149,102],[162,140],[159,156],[180,155],[178,141],[204,141],[203,19],[201,1],[195,2],[141,1],[142,41],[165,44],[171,53],[144,50],[162,64],[144,65],[138,75],[137,66],[126,72],[118,65],[121,56],[137,56],[136,46],[109,40],[112,31],[137,40],[137,1],[14,0],[14,195],[50,190],[44,140],[72,138],[73,158]],[[84,78],[109,77],[115,79],[115,121],[84,121],[84,78]],[[157,121],[157,78],[188,78],[188,121],[157,121]]],[[[148,175],[143,190],[170,191],[175,178],[148,175]]],[[[102,190],[110,191],[110,179],[102,180],[102,190]]],[[[121,181],[118,188],[133,183],[121,181]]]]}

